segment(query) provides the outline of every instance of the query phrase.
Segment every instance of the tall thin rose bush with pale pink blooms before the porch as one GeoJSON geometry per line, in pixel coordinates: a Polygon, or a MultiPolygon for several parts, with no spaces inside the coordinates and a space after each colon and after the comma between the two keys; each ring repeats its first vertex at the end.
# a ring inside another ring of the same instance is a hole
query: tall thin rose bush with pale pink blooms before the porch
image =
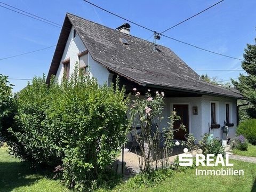
{"type": "MultiPolygon", "coordinates": [[[[162,167],[167,166],[168,158],[173,147],[173,123],[179,117],[172,113],[169,117],[168,126],[160,126],[163,120],[164,92],[159,94],[156,91],[153,98],[150,90],[145,97],[140,96],[136,88],[133,89],[135,99],[132,101],[130,111],[131,123],[135,133],[135,139],[140,146],[139,166],[142,172],[150,172],[157,169],[159,163],[162,167]],[[136,127],[141,127],[141,132],[137,132],[136,127]]],[[[181,124],[180,128],[184,126],[181,124]]]]}

